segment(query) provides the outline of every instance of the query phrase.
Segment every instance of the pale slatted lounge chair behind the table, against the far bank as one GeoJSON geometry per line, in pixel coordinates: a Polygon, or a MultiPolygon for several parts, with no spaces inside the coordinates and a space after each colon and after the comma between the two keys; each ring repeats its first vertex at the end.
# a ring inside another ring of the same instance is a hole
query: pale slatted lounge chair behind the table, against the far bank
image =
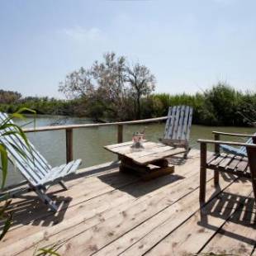
{"type": "Polygon", "coordinates": [[[166,145],[185,148],[185,158],[190,150],[188,140],[192,125],[192,112],[193,109],[189,106],[169,107],[164,138],[159,139],[166,145]]]}

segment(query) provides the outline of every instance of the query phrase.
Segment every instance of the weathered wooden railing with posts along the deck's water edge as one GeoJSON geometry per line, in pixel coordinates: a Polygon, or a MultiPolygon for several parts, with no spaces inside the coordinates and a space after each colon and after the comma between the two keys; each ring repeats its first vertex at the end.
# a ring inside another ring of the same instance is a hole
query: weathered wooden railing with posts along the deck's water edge
{"type": "MultiPolygon", "coordinates": [[[[123,126],[164,121],[167,119],[167,117],[168,116],[161,116],[161,117],[142,119],[142,120],[136,120],[136,121],[120,121],[120,122],[98,123],[98,124],[69,125],[69,126],[41,126],[36,128],[27,128],[27,129],[24,129],[24,131],[28,133],[28,132],[39,132],[39,131],[49,131],[49,130],[65,130],[66,161],[68,163],[69,161],[73,160],[73,129],[99,127],[99,126],[117,126],[117,143],[121,143],[123,141],[123,126]]],[[[163,133],[164,133],[164,130],[163,130],[163,133]]]]}

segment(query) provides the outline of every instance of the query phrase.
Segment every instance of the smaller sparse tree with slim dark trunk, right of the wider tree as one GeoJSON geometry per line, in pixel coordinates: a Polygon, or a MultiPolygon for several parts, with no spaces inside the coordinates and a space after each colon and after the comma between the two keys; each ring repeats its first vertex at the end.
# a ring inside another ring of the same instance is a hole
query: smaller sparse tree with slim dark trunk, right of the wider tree
{"type": "Polygon", "coordinates": [[[130,92],[135,101],[136,118],[141,117],[140,101],[141,97],[149,96],[155,88],[155,78],[145,65],[139,63],[131,68],[127,67],[127,81],[130,83],[130,92]]]}

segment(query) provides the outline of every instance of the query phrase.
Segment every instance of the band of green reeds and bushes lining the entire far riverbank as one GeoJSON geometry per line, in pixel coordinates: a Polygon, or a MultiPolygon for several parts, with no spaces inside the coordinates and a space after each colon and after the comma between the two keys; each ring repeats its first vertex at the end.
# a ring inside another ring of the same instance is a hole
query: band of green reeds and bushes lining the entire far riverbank
{"type": "MultiPolygon", "coordinates": [[[[6,93],[8,95],[16,92],[6,93]]],[[[84,96],[72,100],[60,100],[50,97],[21,97],[19,93],[18,95],[20,96],[17,98],[11,97],[12,100],[0,97],[0,111],[12,113],[21,107],[27,107],[36,110],[38,114],[82,116],[83,118],[87,116],[92,121],[98,122],[136,119],[135,110],[129,107],[130,105],[121,109],[115,104],[111,106],[97,98],[90,99],[84,96]]],[[[126,98],[126,100],[132,102],[132,99],[126,98]]],[[[175,105],[193,107],[192,123],[194,125],[251,126],[256,121],[256,93],[236,91],[225,83],[218,83],[205,92],[197,92],[193,95],[155,93],[143,97],[140,100],[140,118],[137,119],[167,116],[168,107],[175,105]]]]}

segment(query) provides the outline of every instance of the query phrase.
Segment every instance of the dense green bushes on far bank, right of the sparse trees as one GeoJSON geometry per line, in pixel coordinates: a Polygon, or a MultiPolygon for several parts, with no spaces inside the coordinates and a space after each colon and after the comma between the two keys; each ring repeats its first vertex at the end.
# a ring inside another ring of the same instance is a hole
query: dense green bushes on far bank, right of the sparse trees
{"type": "MultiPolygon", "coordinates": [[[[154,101],[162,103],[160,116],[168,113],[168,106],[183,104],[192,106],[194,108],[192,120],[194,124],[248,126],[256,121],[256,93],[236,91],[227,83],[217,83],[211,89],[202,93],[197,92],[195,95],[161,93],[154,94],[153,98],[154,101]]],[[[154,113],[154,109],[147,112],[154,113]]]]}

